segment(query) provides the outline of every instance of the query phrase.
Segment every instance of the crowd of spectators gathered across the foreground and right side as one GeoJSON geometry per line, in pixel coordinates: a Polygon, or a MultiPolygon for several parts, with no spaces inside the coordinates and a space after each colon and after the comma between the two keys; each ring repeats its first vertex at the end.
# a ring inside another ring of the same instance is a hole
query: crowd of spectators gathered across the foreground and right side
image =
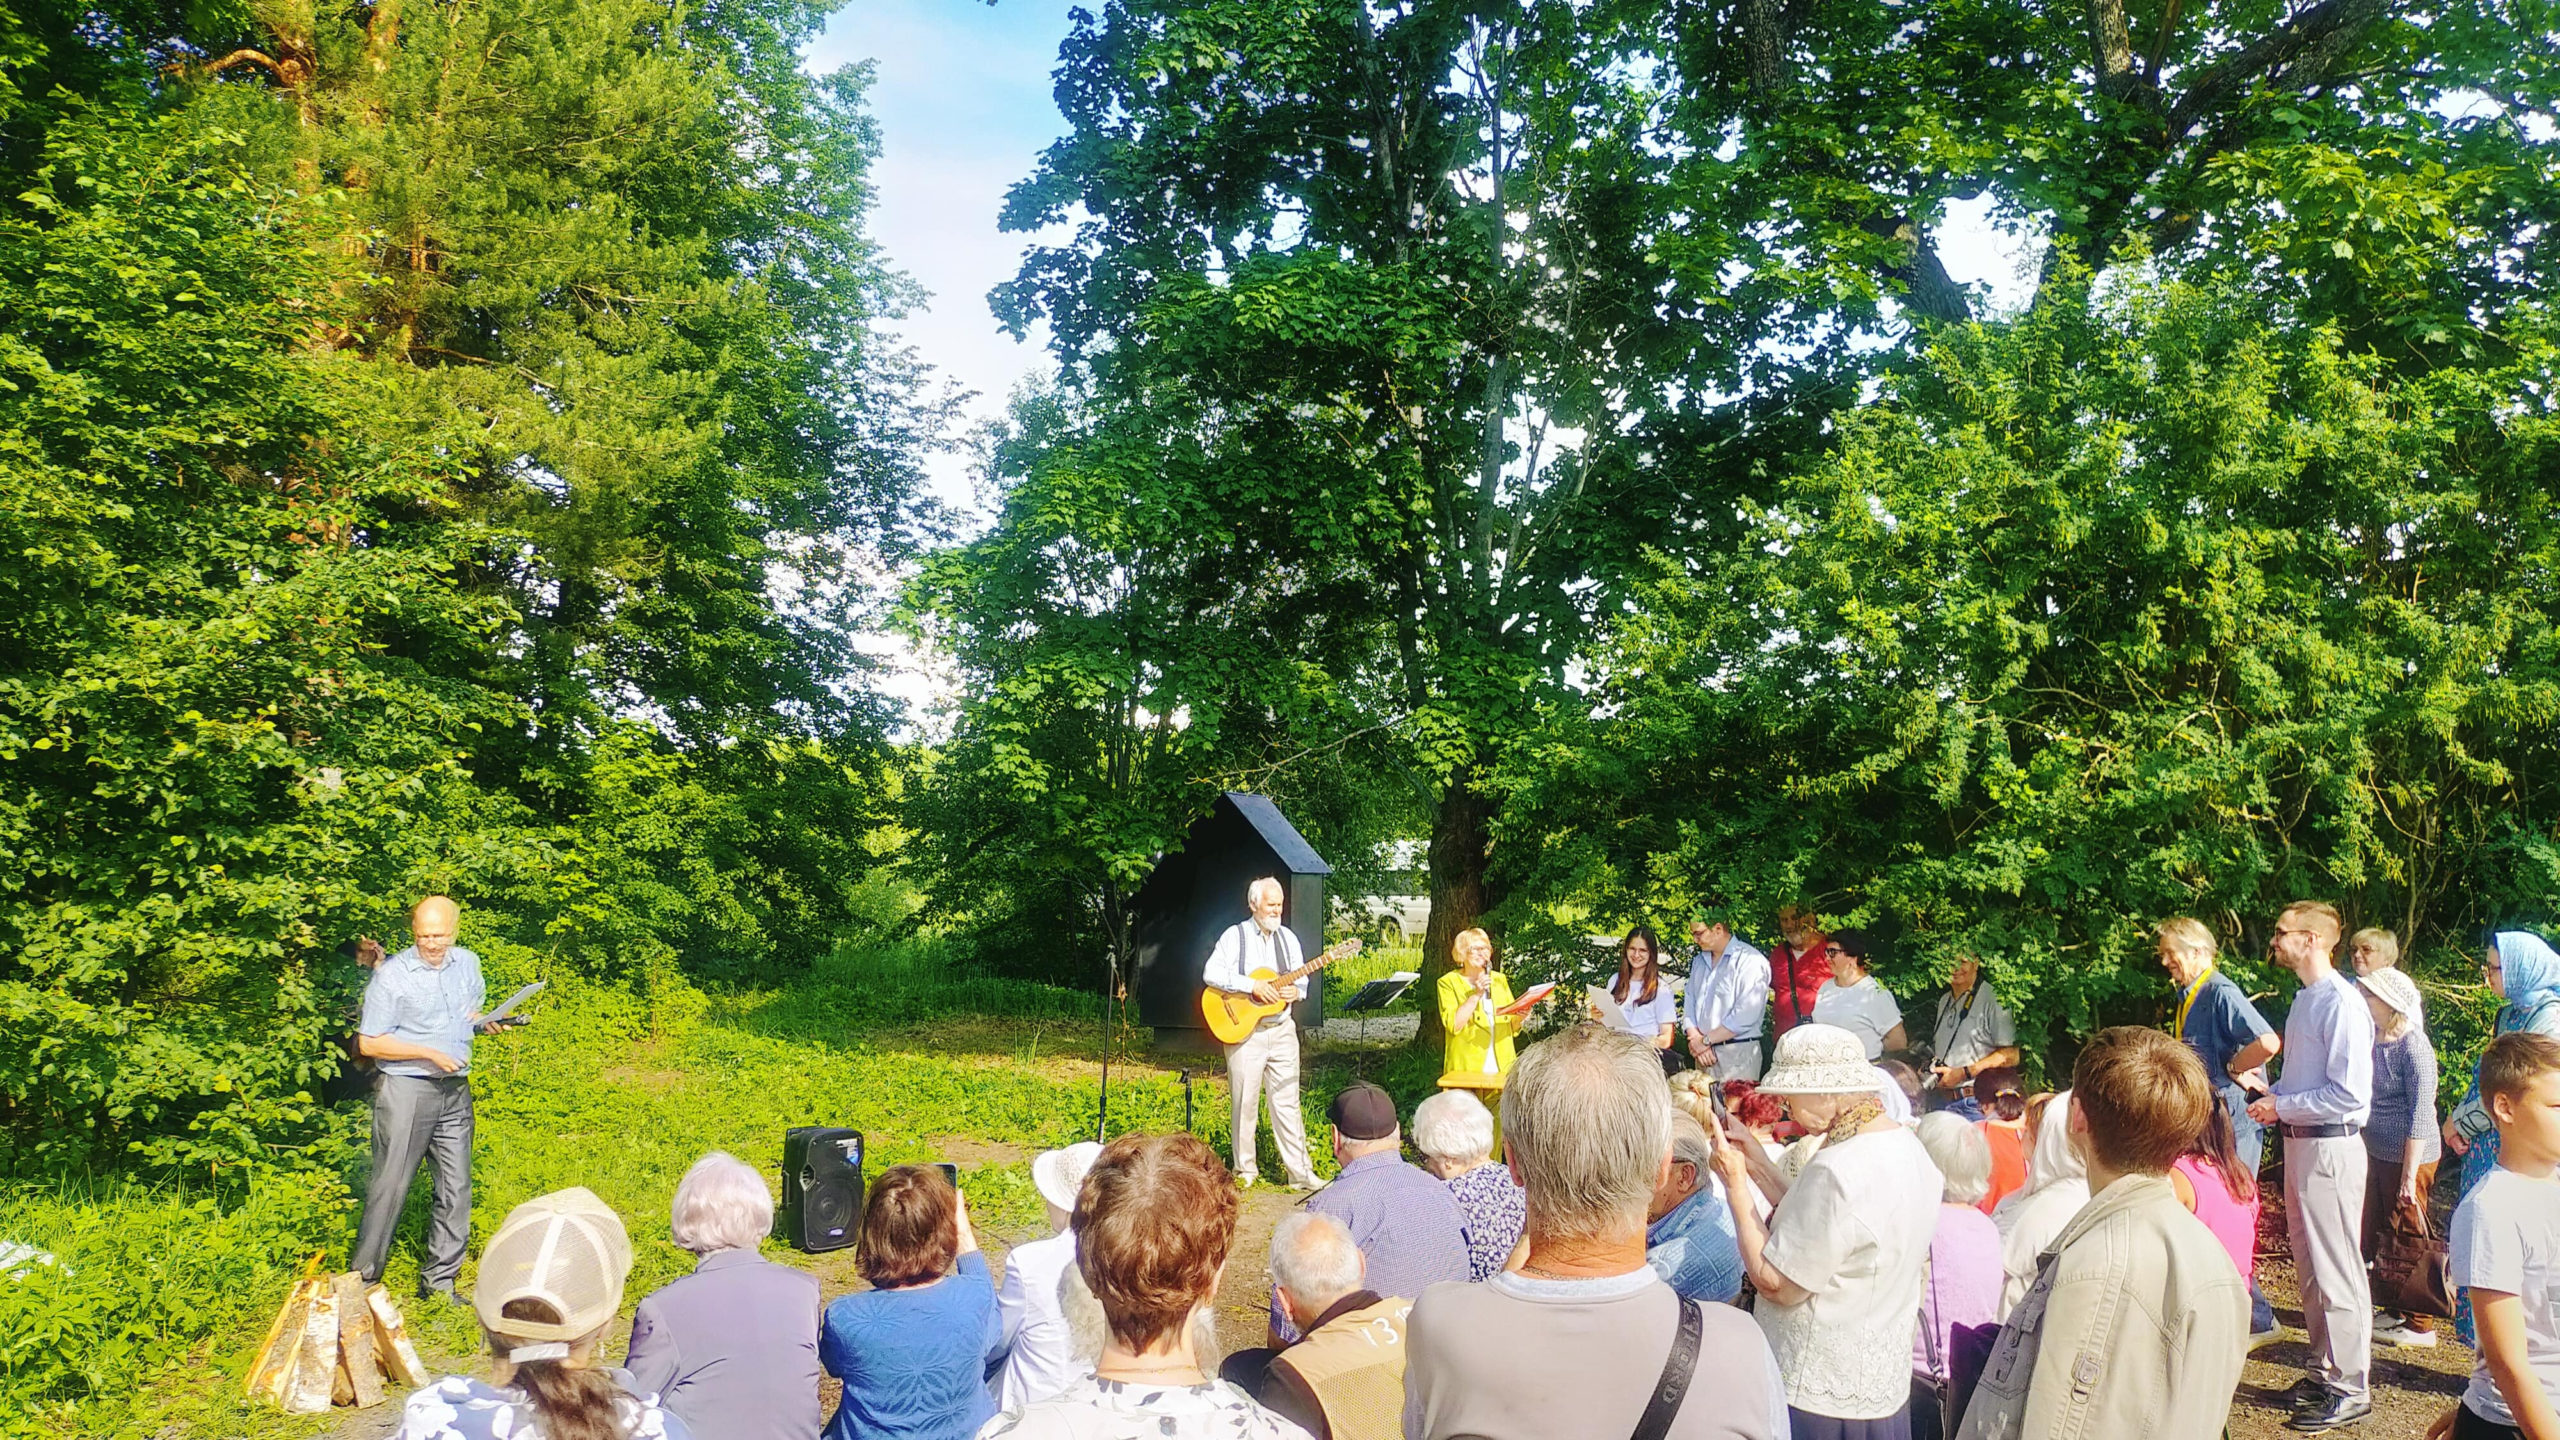
{"type": "Polygon", "coordinates": [[[671,1209],[699,1263],[640,1299],[622,1368],[599,1361],[622,1222],[579,1189],[540,1197],[481,1256],[489,1376],[410,1396],[402,1435],[2209,1437],[2273,1335],[2253,1271],[2276,1130],[2309,1345],[2291,1427],[2371,1414],[2376,1343],[2437,1343],[2427,1314],[2376,1309],[2368,1266],[2424,1225],[2452,1150],[2455,1325],[2478,1363],[2432,1435],[2560,1440],[2560,956],[2540,938],[2491,943],[2499,1033],[2440,1125],[2399,948],[2365,930],[2337,969],[2319,902],[2273,928],[2301,984],[2281,1035],[2212,933],[2168,920],[2173,1030],[2099,1030],[2053,1094],[2022,1094],[2015,1025],[1971,963],[1925,1068],[1882,1068],[1905,1035],[1864,999],[1864,938],[1795,920],[1789,963],[1828,966],[1810,997],[1700,922],[1684,997],[1638,935],[1610,986],[1633,1025],[1521,1045],[1469,1012],[1510,994],[1467,940],[1439,999],[1500,1066],[1500,1120],[1449,1086],[1408,1135],[1385,1089],[1334,1094],[1334,1179],[1270,1235],[1265,1345],[1219,1350],[1239,1176],[1190,1135],[1039,1156],[1052,1232],[1001,1284],[952,1181],[893,1166],[860,1217],[868,1289],[835,1302],[760,1258],[771,1191],[714,1153],[671,1209]],[[1764,1022],[1766,1053],[1746,1053],[1764,1022]],[[1695,1063],[1667,1076],[1682,1038],[1695,1063]]]}

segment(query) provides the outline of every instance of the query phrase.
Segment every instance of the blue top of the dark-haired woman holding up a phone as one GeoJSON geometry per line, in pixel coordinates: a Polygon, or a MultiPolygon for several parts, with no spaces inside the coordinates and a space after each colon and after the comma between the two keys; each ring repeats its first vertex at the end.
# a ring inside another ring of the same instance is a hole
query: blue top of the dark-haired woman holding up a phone
{"type": "Polygon", "coordinates": [[[817,1358],[845,1381],[827,1440],[899,1435],[970,1440],[996,1414],[986,1389],[996,1286],[986,1256],[904,1289],[865,1289],[827,1307],[817,1358]]]}

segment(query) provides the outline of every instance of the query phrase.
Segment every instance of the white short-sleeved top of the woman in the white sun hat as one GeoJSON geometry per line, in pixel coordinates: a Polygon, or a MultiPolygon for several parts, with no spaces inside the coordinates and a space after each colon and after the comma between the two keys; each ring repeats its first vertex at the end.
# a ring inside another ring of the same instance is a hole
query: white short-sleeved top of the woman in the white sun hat
{"type": "Polygon", "coordinates": [[[1787,1404],[1884,1420],[1910,1404],[1920,1289],[1946,1176],[1910,1130],[1823,1145],[1769,1217],[1761,1256],[1807,1294],[1751,1309],[1787,1404]]]}

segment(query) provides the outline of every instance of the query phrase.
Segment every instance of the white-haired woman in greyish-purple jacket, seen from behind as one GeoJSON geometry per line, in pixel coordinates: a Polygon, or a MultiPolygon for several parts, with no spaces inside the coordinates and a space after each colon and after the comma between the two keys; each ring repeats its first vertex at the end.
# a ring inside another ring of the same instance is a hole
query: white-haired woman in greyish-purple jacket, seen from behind
{"type": "Polygon", "coordinates": [[[640,1302],[630,1373],[696,1435],[817,1440],[817,1276],[755,1253],[773,1230],[765,1176],[724,1150],[676,1181],[668,1238],[694,1273],[640,1302]]]}

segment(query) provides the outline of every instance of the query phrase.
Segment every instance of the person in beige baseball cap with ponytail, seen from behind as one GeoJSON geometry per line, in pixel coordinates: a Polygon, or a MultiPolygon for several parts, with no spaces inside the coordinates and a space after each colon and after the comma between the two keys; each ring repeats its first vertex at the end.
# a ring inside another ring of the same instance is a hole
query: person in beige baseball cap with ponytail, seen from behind
{"type": "MultiPolygon", "coordinates": [[[[691,1440],[684,1420],[596,1366],[622,1309],[632,1243],[586,1189],[527,1199],[481,1250],[471,1309],[489,1338],[489,1381],[445,1376],[410,1396],[399,1440],[691,1440]]],[[[709,1430],[704,1435],[724,1435],[709,1430]]]]}

